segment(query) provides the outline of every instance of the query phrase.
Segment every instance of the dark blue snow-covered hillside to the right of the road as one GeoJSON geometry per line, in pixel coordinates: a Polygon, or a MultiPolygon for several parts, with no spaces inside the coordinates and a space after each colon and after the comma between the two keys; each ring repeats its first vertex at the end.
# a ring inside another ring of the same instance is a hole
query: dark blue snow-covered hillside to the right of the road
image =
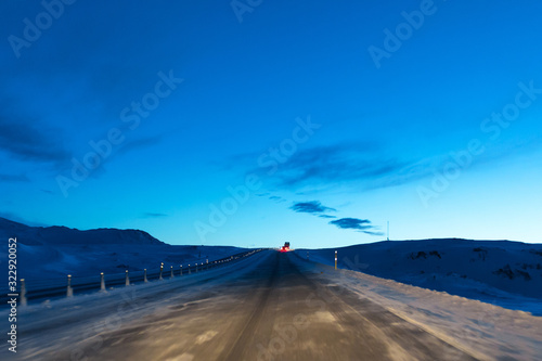
{"type": "Polygon", "coordinates": [[[312,261],[542,315],[542,245],[508,241],[389,241],[297,249],[312,261]]]}

